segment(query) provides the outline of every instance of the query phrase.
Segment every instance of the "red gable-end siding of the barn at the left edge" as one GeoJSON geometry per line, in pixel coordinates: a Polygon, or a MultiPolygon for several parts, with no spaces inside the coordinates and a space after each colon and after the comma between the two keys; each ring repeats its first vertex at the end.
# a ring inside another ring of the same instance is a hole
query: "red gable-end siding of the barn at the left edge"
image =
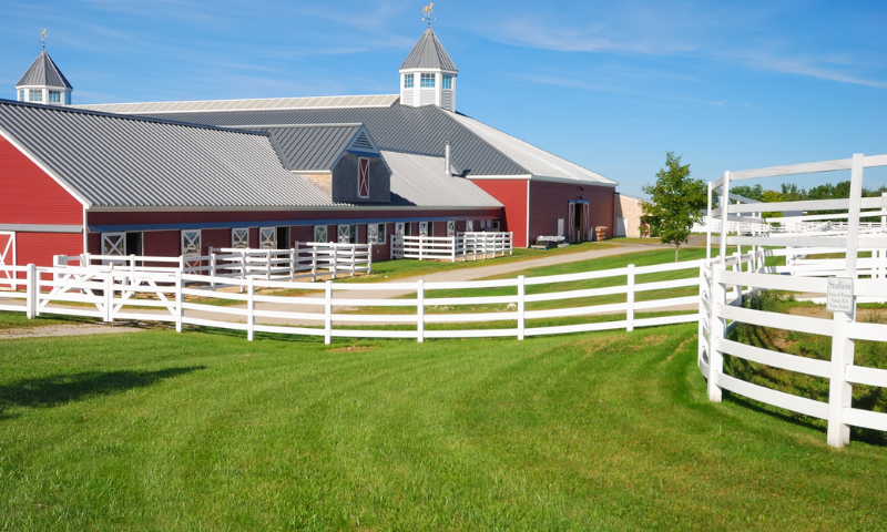
{"type": "MultiPolygon", "coordinates": [[[[3,137],[0,137],[0,191],[3,191],[0,224],[83,225],[80,202],[3,137]]],[[[77,253],[83,253],[82,248],[80,241],[77,253]]]]}

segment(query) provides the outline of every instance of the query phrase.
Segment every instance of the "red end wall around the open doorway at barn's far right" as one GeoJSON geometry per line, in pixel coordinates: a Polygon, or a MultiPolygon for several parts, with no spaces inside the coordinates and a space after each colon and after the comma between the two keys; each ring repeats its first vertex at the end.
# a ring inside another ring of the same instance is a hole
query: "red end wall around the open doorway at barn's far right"
{"type": "Polygon", "coordinates": [[[591,209],[589,214],[592,229],[604,225],[608,227],[606,237],[612,237],[614,194],[615,188],[612,186],[533,181],[530,184],[530,242],[536,241],[539,235],[558,234],[558,218],[567,218],[571,200],[587,200],[591,209]],[[583,190],[580,191],[580,187],[583,190]]]}

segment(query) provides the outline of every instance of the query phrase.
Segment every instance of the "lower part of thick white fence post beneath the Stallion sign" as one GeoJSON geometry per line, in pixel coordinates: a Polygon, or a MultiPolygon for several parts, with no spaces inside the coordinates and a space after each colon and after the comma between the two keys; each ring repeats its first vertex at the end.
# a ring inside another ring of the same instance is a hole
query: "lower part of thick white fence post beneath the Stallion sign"
{"type": "MultiPolygon", "coordinates": [[[[855,305],[855,303],[854,303],[855,305]]],[[[853,386],[847,382],[847,366],[853,365],[854,342],[847,337],[852,318],[835,313],[832,332],[832,375],[828,381],[828,431],[826,439],[832,447],[844,447],[850,442],[850,428],[844,423],[844,409],[853,401],[853,386]]]]}

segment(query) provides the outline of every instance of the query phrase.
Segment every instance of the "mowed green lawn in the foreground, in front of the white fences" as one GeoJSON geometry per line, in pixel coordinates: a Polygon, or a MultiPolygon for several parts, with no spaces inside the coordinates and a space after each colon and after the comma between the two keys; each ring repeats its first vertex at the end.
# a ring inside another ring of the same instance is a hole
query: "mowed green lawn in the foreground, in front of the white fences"
{"type": "Polygon", "coordinates": [[[707,402],[695,332],[0,340],[0,528],[884,530],[887,449],[707,402]]]}

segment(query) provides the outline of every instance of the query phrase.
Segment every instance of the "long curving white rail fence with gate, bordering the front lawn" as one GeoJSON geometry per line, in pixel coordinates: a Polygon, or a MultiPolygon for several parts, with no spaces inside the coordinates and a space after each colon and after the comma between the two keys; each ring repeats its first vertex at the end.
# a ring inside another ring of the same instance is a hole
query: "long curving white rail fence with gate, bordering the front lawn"
{"type": "MultiPolygon", "coordinates": [[[[752,260],[746,256],[735,260],[752,260]]],[[[78,266],[38,268],[33,265],[12,270],[18,288],[23,291],[0,294],[18,299],[0,306],[4,310],[27,311],[29,317],[41,314],[92,316],[104,321],[139,319],[174,321],[183,325],[245,330],[249,339],[255,332],[323,336],[326,342],[334,337],[361,338],[466,338],[555,335],[605,329],[632,330],[664,324],[697,321],[699,295],[663,296],[638,300],[651,290],[696,288],[701,260],[635,267],[629,265],[603,272],[587,272],[543,277],[460,283],[334,283],[323,285],[304,282],[245,279],[182,274],[181,272],[132,272],[78,266]],[[689,272],[675,280],[641,283],[639,276],[666,272],[689,272]],[[624,278],[624,284],[603,288],[573,289],[561,286],[592,279],[624,278]],[[242,293],[197,288],[197,283],[234,285],[242,293]],[[528,294],[529,287],[529,294],[528,294]],[[538,287],[538,288],[537,288],[538,287]],[[298,290],[304,295],[261,295],[261,289],[298,290]],[[447,296],[435,290],[465,290],[467,295],[447,296]],[[493,290],[495,294],[489,294],[493,290]],[[487,294],[485,294],[487,291],[487,294]],[[502,295],[501,293],[507,293],[502,295]],[[360,295],[368,297],[360,297],[360,295]],[[595,301],[589,298],[618,296],[620,303],[595,301]],[[404,298],[406,297],[406,298],[404,298]],[[220,301],[224,299],[225,301],[220,301]],[[558,301],[552,305],[552,303],[558,301]],[[562,306],[562,301],[575,305],[562,306]],[[213,304],[215,303],[215,304],[213,304]],[[223,305],[220,305],[223,303],[223,305]],[[77,306],[72,306],[77,305],[77,306]],[[528,308],[528,305],[530,308],[528,308]],[[478,307],[485,311],[446,311],[453,307],[478,307]],[[378,310],[400,307],[399,311],[378,310]],[[445,308],[446,307],[446,308],[445,308]],[[369,309],[373,314],[360,314],[369,309]],[[689,314],[657,317],[635,317],[636,313],[686,311],[689,314]],[[622,315],[610,321],[582,318],[601,315],[622,315]],[[578,318],[579,323],[550,324],[539,320],[578,318]],[[511,321],[512,325],[508,325],[511,321]],[[487,327],[435,328],[439,324],[478,324],[487,327]],[[408,326],[406,330],[378,328],[384,325],[408,326]],[[376,326],[376,328],[374,328],[376,326]],[[430,328],[428,327],[430,326],[430,328]]],[[[0,299],[0,301],[3,299],[0,299]]]]}

